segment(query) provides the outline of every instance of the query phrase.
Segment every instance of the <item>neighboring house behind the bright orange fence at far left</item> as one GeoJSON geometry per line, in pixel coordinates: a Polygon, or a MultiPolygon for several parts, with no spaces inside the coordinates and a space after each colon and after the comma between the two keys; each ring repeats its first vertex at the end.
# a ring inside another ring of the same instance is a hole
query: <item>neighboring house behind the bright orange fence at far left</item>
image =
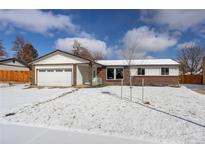
{"type": "Polygon", "coordinates": [[[0,70],[29,71],[29,68],[16,58],[0,59],[0,70]]]}

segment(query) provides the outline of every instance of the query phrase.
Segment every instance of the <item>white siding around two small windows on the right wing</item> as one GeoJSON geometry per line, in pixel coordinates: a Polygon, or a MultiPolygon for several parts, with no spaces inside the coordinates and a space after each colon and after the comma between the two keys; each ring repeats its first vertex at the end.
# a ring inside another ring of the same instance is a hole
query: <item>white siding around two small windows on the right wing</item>
{"type": "Polygon", "coordinates": [[[145,76],[161,76],[161,68],[169,68],[169,76],[179,75],[179,66],[132,66],[131,75],[137,76],[137,68],[145,68],[145,76]]]}

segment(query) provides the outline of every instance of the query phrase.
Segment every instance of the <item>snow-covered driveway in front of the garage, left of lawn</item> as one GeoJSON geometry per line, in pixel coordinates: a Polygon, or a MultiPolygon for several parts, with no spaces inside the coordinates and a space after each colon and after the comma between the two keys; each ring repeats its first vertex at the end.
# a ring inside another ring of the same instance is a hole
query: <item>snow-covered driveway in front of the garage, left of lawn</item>
{"type": "Polygon", "coordinates": [[[0,113],[55,98],[73,88],[29,88],[29,85],[0,84],[0,113]]]}

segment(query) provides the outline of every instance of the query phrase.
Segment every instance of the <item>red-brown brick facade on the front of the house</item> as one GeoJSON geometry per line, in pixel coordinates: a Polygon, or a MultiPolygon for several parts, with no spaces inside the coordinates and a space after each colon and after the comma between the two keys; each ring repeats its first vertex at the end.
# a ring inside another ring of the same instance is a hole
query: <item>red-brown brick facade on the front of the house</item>
{"type": "MultiPolygon", "coordinates": [[[[102,79],[103,85],[121,85],[121,80],[106,80],[106,67],[102,66],[98,68],[98,77],[102,79]]],[[[145,85],[178,85],[178,76],[133,76],[132,85],[141,85],[142,79],[144,79],[145,85]]],[[[124,67],[124,85],[129,85],[129,70],[128,67],[124,67]]]]}

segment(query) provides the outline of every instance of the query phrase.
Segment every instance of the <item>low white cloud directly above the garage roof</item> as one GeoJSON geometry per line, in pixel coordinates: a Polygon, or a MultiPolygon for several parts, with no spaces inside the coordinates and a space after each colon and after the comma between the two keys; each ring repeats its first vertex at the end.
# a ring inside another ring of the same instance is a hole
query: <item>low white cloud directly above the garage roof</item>
{"type": "Polygon", "coordinates": [[[100,51],[103,54],[107,54],[108,50],[110,50],[107,48],[107,45],[104,41],[96,40],[94,38],[80,38],[80,37],[60,38],[55,42],[55,47],[56,49],[71,51],[73,50],[74,40],[77,40],[82,47],[87,48],[91,52],[100,51]]]}

